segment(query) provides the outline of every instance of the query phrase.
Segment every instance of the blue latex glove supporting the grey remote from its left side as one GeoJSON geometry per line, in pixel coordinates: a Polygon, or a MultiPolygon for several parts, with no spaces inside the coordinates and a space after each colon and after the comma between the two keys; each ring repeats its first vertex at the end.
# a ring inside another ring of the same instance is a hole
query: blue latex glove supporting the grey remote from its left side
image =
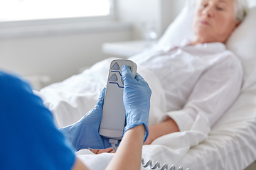
{"type": "Polygon", "coordinates": [[[99,134],[105,91],[106,88],[102,90],[100,98],[92,111],[88,112],[73,125],[60,129],[60,132],[63,132],[76,151],[80,149],[106,149],[111,147],[108,139],[99,134]]]}

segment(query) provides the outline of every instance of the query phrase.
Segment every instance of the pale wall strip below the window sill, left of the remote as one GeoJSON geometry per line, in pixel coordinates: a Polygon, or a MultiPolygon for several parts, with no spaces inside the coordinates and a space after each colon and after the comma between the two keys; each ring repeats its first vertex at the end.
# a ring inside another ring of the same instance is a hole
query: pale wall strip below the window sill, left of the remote
{"type": "Polygon", "coordinates": [[[131,40],[131,36],[130,30],[108,30],[4,38],[0,40],[0,69],[25,76],[47,74],[51,82],[62,81],[80,67],[110,57],[102,54],[102,43],[131,40]]]}

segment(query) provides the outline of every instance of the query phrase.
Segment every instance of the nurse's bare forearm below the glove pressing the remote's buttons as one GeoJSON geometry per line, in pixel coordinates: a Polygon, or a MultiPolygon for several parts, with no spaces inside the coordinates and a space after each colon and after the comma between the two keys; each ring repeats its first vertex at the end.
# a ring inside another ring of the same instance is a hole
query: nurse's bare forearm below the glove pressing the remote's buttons
{"type": "Polygon", "coordinates": [[[142,145],[145,135],[144,125],[138,125],[125,132],[107,170],[139,170],[142,161],[142,145]]]}

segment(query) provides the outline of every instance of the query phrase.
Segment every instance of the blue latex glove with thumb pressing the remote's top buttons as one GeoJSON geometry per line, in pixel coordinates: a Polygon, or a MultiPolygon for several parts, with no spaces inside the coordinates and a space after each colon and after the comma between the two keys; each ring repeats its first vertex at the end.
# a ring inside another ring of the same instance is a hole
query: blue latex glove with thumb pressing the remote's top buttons
{"type": "Polygon", "coordinates": [[[124,133],[137,125],[145,126],[144,142],[149,135],[149,108],[151,89],[149,84],[138,73],[134,79],[129,67],[122,67],[124,80],[124,108],[126,111],[127,125],[124,133]]]}

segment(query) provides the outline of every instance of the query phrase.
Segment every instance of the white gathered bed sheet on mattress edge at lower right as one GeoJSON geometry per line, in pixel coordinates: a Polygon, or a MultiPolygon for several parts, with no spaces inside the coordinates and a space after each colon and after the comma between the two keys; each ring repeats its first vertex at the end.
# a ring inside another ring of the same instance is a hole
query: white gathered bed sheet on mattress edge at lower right
{"type": "Polygon", "coordinates": [[[245,169],[256,160],[256,84],[210,131],[208,139],[191,147],[179,164],[192,169],[245,169]]]}

